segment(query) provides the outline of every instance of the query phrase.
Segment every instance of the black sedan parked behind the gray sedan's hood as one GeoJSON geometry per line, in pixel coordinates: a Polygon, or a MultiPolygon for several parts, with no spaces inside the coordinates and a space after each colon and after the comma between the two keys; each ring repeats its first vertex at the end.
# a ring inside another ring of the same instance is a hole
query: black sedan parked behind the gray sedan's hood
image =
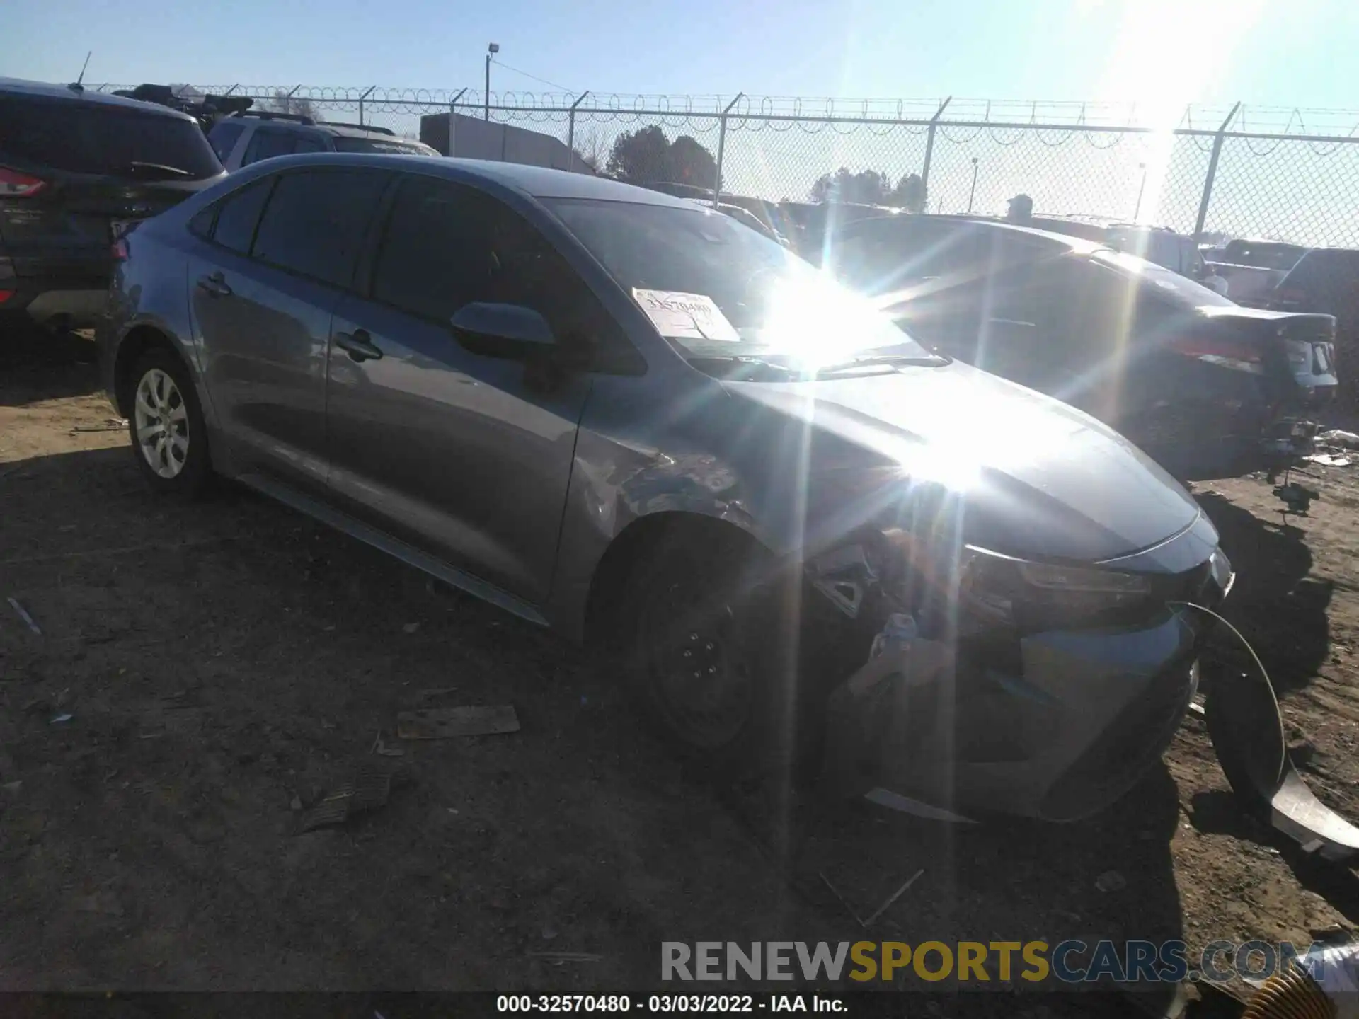
{"type": "Polygon", "coordinates": [[[832,268],[934,349],[1049,393],[1173,470],[1275,448],[1335,394],[1335,319],[1238,307],[1135,255],[951,216],[843,227],[832,268]]]}

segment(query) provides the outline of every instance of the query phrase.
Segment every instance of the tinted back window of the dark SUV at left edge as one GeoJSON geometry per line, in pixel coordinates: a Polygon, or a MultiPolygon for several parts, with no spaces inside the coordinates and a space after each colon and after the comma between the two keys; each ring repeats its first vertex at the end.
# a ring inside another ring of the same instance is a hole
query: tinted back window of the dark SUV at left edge
{"type": "Polygon", "coordinates": [[[63,99],[0,95],[0,151],[76,174],[201,181],[222,173],[193,121],[63,99]]]}

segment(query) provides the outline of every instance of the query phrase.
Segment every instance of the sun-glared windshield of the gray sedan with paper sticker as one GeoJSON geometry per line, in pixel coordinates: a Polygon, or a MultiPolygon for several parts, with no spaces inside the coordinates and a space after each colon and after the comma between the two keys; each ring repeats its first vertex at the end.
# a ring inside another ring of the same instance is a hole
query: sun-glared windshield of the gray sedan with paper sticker
{"type": "Polygon", "coordinates": [[[617,201],[548,204],[688,355],[810,368],[868,351],[930,356],[867,302],[730,216],[617,201]]]}

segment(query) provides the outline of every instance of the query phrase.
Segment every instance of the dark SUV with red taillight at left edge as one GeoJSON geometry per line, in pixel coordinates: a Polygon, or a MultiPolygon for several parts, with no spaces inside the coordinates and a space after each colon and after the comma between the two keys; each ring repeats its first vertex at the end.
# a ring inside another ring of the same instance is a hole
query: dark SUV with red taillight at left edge
{"type": "Polygon", "coordinates": [[[183,113],[0,79],[0,312],[53,327],[94,325],[117,232],[222,174],[183,113]]]}

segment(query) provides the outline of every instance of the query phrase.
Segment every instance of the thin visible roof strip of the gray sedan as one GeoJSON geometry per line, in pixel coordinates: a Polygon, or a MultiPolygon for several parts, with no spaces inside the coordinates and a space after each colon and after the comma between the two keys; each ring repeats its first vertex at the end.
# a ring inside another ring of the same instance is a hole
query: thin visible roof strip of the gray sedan
{"type": "Polygon", "coordinates": [[[693,209],[690,198],[674,198],[660,192],[647,190],[606,177],[576,174],[569,170],[550,170],[545,166],[499,163],[489,159],[447,159],[444,156],[395,155],[387,152],[308,152],[295,156],[276,156],[251,163],[268,168],[284,166],[372,166],[383,168],[406,167],[434,173],[450,181],[484,181],[516,190],[533,198],[594,198],[621,201],[632,205],[667,205],[674,209],[693,209]]]}

